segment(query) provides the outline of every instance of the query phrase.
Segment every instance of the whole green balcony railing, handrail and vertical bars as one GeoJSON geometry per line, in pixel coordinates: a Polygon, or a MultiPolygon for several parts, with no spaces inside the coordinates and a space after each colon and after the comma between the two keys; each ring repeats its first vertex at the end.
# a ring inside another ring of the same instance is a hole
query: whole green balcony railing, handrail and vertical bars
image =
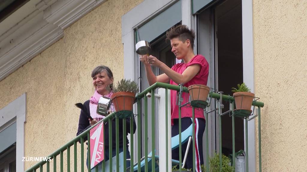
{"type": "MultiPolygon", "coordinates": [[[[166,83],[161,83],[161,82],[156,82],[155,84],[153,84],[153,85],[151,85],[150,87],[148,87],[148,88],[146,88],[143,92],[141,92],[141,93],[138,93],[137,95],[136,95],[136,101],[135,101],[135,103],[137,102],[138,103],[138,105],[140,105],[141,104],[141,99],[142,98],[144,98],[144,101],[145,101],[145,109],[147,109],[147,96],[146,96],[146,94],[147,93],[151,93],[151,92],[154,92],[154,90],[156,89],[156,88],[165,88],[166,89],[166,92],[167,92],[167,90],[168,89],[170,89],[170,90],[175,90],[175,91],[180,91],[180,86],[177,86],[177,85],[171,85],[171,84],[166,84],[166,83]]],[[[182,89],[184,92],[188,92],[188,89],[186,88],[186,87],[183,87],[183,89],[182,89]]],[[[166,94],[166,93],[165,93],[166,94]]],[[[220,99],[220,94],[219,93],[215,93],[215,92],[212,92],[212,93],[210,93],[209,94],[209,97],[212,97],[212,98],[214,98],[214,99],[220,99]]],[[[165,95],[165,98],[166,98],[166,102],[167,102],[167,94],[165,95]]],[[[154,99],[155,99],[155,96],[154,96],[154,94],[152,95],[152,97],[151,97],[151,106],[152,107],[154,107],[155,106],[155,104],[154,104],[154,99]]],[[[233,101],[235,101],[234,100],[234,97],[233,96],[230,96],[230,95],[222,95],[222,99],[223,100],[227,100],[227,101],[231,101],[231,102],[233,102],[233,101]]],[[[262,103],[262,102],[258,102],[258,101],[254,101],[253,102],[253,105],[254,106],[257,106],[258,107],[258,110],[259,110],[259,120],[260,120],[260,107],[263,107],[264,106],[264,103],[262,103]]],[[[167,114],[167,104],[165,105],[165,113],[167,114]]],[[[141,124],[140,124],[140,122],[141,122],[141,116],[140,116],[140,114],[141,114],[141,112],[140,112],[140,107],[138,106],[138,135],[141,135],[141,128],[139,128],[139,126],[141,126],[141,124]]],[[[155,111],[154,111],[154,108],[152,108],[151,109],[151,113],[152,114],[154,114],[155,113],[155,111]]],[[[220,113],[220,109],[219,109],[219,113],[220,113]]],[[[193,112],[192,112],[192,114],[193,114],[193,118],[194,118],[194,108],[193,108],[193,112]]],[[[207,112],[205,112],[205,114],[206,114],[206,118],[208,117],[208,114],[207,114],[207,112]]],[[[180,116],[181,116],[181,109],[179,108],[179,118],[180,118],[180,116]]],[[[53,160],[53,168],[54,168],[54,170],[56,170],[56,156],[57,155],[60,155],[60,167],[61,167],[61,171],[63,171],[63,152],[64,151],[66,151],[67,150],[67,156],[69,156],[69,157],[67,157],[67,163],[69,164],[69,162],[70,162],[70,147],[71,146],[74,146],[74,163],[75,163],[75,170],[74,171],[77,171],[77,167],[76,167],[76,145],[77,145],[77,142],[80,142],[81,141],[81,151],[82,150],[84,150],[84,137],[87,137],[88,139],[90,138],[90,134],[89,134],[89,132],[90,132],[90,130],[91,129],[93,129],[96,125],[98,125],[99,123],[101,123],[101,122],[111,122],[111,120],[113,120],[114,118],[116,118],[116,114],[115,114],[115,112],[113,112],[113,113],[111,113],[110,115],[108,115],[107,117],[105,117],[105,118],[103,118],[102,120],[100,120],[99,122],[97,122],[95,125],[93,125],[93,126],[91,126],[90,128],[88,128],[87,130],[85,130],[83,133],[81,133],[80,135],[78,135],[78,136],[76,136],[74,139],[72,139],[71,141],[69,141],[67,144],[65,144],[65,145],[63,145],[61,148],[59,148],[58,150],[56,150],[56,151],[54,151],[52,154],[50,154],[48,157],[50,157],[51,159],[54,159],[53,160]]],[[[154,119],[154,116],[152,116],[151,117],[152,119],[151,119],[151,121],[152,121],[152,123],[154,123],[155,121],[155,119],[154,119]]],[[[132,119],[132,117],[131,117],[131,119],[132,119]]],[[[147,126],[147,110],[145,110],[145,119],[146,119],[146,123],[145,123],[145,126],[147,126]]],[[[245,119],[246,120],[246,122],[247,122],[247,119],[245,119]]],[[[207,121],[206,121],[207,122],[207,121]]],[[[111,122],[112,123],[112,122],[111,122]]],[[[112,134],[110,133],[111,132],[111,130],[110,130],[110,128],[111,128],[111,125],[112,124],[109,124],[109,137],[110,137],[110,139],[109,139],[109,156],[110,157],[112,157],[112,142],[111,142],[111,140],[112,140],[112,134]]],[[[193,121],[193,123],[194,123],[194,121],[193,121]]],[[[259,123],[259,136],[260,136],[260,121],[258,121],[258,123],[259,123]]],[[[126,124],[125,122],[123,123],[123,124],[126,124]]],[[[167,125],[167,116],[166,116],[166,123],[165,123],[165,125],[167,125]]],[[[220,124],[221,125],[221,124],[220,124]]],[[[233,123],[233,125],[234,125],[234,123],[233,123]]],[[[123,125],[124,127],[123,127],[123,137],[125,137],[125,133],[126,133],[126,127],[125,127],[125,125],[123,125]]],[[[133,127],[131,127],[131,126],[133,126],[133,120],[130,120],[130,133],[134,133],[133,132],[133,127]]],[[[179,130],[181,131],[181,120],[179,120],[179,130]]],[[[118,118],[117,118],[117,120],[116,120],[116,128],[118,128],[119,127],[119,121],[118,121],[118,118]]],[[[247,128],[246,128],[247,129],[247,128]]],[[[146,131],[146,133],[148,132],[147,131],[147,128],[145,128],[145,131],[146,131]]],[[[152,152],[154,152],[154,148],[155,148],[155,137],[154,137],[154,131],[155,131],[155,128],[154,128],[154,125],[152,124],[152,136],[153,136],[153,138],[152,138],[152,152]]],[[[206,128],[206,133],[208,132],[208,128],[206,128]]],[[[193,132],[194,133],[194,132],[193,132]]],[[[131,140],[131,142],[130,142],[130,144],[132,145],[131,146],[131,153],[133,154],[133,135],[134,134],[130,134],[130,140],[131,140]]],[[[220,134],[221,135],[221,134],[220,134]]],[[[147,134],[145,134],[145,136],[147,136],[147,134]]],[[[167,135],[166,135],[167,136],[167,135]]],[[[206,134],[206,136],[207,136],[207,134],[206,134]]],[[[195,137],[195,136],[193,136],[193,137],[195,137]]],[[[234,136],[233,136],[234,137],[234,136]]],[[[118,129],[116,129],[116,142],[118,143],[119,142],[119,131],[118,131],[118,129]]],[[[167,139],[166,139],[167,140],[167,139]]],[[[179,140],[181,140],[181,132],[180,132],[180,134],[179,134],[179,140]]],[[[194,140],[194,139],[193,139],[194,140]]],[[[208,139],[207,139],[208,140],[208,139]]],[[[221,140],[221,138],[220,138],[220,140],[221,140]]],[[[233,139],[234,140],[234,139],[233,139]]],[[[123,140],[125,143],[126,143],[126,139],[124,139],[123,140]]],[[[168,142],[166,142],[166,143],[168,143],[168,142]]],[[[90,145],[90,142],[88,142],[88,144],[90,145]]],[[[138,145],[141,145],[142,143],[141,143],[141,140],[140,140],[140,138],[138,138],[138,145]]],[[[147,141],[145,140],[145,144],[147,144],[147,141]]],[[[166,144],[167,145],[167,144],[166,144]]],[[[208,145],[208,143],[207,143],[207,145],[208,145]]],[[[259,147],[261,146],[261,143],[260,143],[260,138],[259,138],[259,147]]],[[[123,150],[123,152],[126,152],[125,151],[125,148],[126,147],[124,147],[124,150],[123,150]]],[[[147,167],[148,166],[148,162],[147,162],[147,147],[145,146],[145,148],[146,148],[146,151],[145,151],[145,167],[147,167]]],[[[104,148],[103,148],[104,149],[104,148]]],[[[181,150],[181,142],[179,142],[179,149],[181,150]]],[[[208,149],[208,148],[207,148],[208,149]]],[[[247,150],[248,150],[248,148],[246,148],[247,150]]],[[[195,148],[194,148],[194,141],[193,141],[193,150],[195,150],[195,148]]],[[[140,161],[141,161],[141,147],[140,146],[138,146],[138,149],[137,149],[137,151],[138,151],[138,164],[140,164],[140,161]]],[[[259,155],[260,155],[260,157],[261,157],[261,148],[259,148],[259,155]]],[[[207,151],[207,153],[208,153],[208,151],[207,151]]],[[[89,150],[87,151],[87,154],[88,154],[88,156],[89,156],[89,150]]],[[[118,147],[116,147],[116,155],[119,155],[119,148],[118,147]]],[[[166,156],[168,157],[168,154],[166,154],[166,156]]],[[[124,153],[124,156],[123,157],[126,157],[126,153],[124,153]]],[[[193,156],[193,158],[194,158],[194,156],[193,156]]],[[[81,161],[83,161],[84,160],[84,154],[81,152],[81,161]]],[[[110,158],[109,159],[110,160],[110,164],[112,164],[112,158],[110,158]]],[[[180,160],[180,162],[182,162],[181,160],[182,160],[182,157],[181,157],[181,154],[179,155],[179,160],[180,160]]],[[[261,159],[260,159],[260,161],[261,161],[261,159]]],[[[116,157],[116,162],[119,162],[119,157],[117,156],[116,157]]],[[[152,170],[154,171],[154,162],[155,162],[155,158],[154,158],[154,156],[152,157],[152,170]]],[[[34,171],[36,171],[38,168],[40,168],[40,171],[42,171],[43,170],[43,165],[45,164],[45,163],[47,163],[47,171],[49,172],[49,161],[41,161],[41,162],[38,162],[37,164],[35,164],[34,166],[32,166],[32,167],[30,167],[28,170],[26,170],[25,172],[34,172],[34,171]]],[[[248,163],[248,162],[247,162],[248,163]]],[[[130,161],[130,169],[131,170],[133,170],[133,164],[134,164],[134,156],[132,155],[131,156],[131,161],[130,161]]],[[[91,168],[90,168],[90,159],[89,159],[89,161],[88,161],[88,170],[90,170],[91,168]]],[[[103,166],[105,166],[104,165],[104,161],[103,161],[103,166]]],[[[168,166],[168,163],[166,163],[166,166],[168,166]]],[[[246,165],[247,167],[248,167],[248,165],[246,165]]],[[[124,167],[126,167],[126,162],[124,161],[124,167]]],[[[70,170],[70,166],[68,165],[67,166],[67,168],[70,170]]],[[[181,163],[179,164],[179,168],[181,168],[181,163]]],[[[208,166],[207,166],[207,168],[208,168],[208,166]]],[[[116,168],[117,170],[119,170],[119,167],[117,167],[116,168]]],[[[195,166],[193,165],[193,169],[195,169],[195,166]]],[[[260,169],[260,171],[261,171],[261,162],[259,163],[259,169],[260,169]]],[[[84,164],[83,163],[81,163],[81,171],[82,170],[84,170],[84,164]]],[[[98,168],[97,168],[97,166],[96,166],[96,171],[98,170],[98,168]]],[[[140,166],[138,166],[138,170],[141,170],[141,167],[140,166]]],[[[110,168],[110,172],[112,171],[112,169],[110,168]]],[[[181,170],[180,170],[181,171],[181,170]]]]}

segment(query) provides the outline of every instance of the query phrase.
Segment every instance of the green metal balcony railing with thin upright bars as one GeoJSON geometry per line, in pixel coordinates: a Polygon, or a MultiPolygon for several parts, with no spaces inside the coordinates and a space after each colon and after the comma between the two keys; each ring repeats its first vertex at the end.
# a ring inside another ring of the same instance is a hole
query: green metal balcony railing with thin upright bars
{"type": "MultiPolygon", "coordinates": [[[[136,102],[137,102],[137,131],[134,133],[134,129],[133,129],[133,124],[134,124],[134,115],[131,115],[130,117],[130,168],[129,170],[130,171],[134,171],[134,166],[135,165],[138,165],[138,171],[141,171],[141,161],[143,160],[142,159],[142,151],[141,151],[141,145],[144,144],[145,146],[145,149],[144,149],[144,155],[145,155],[145,158],[144,158],[144,166],[145,166],[145,171],[155,171],[155,163],[156,163],[156,159],[155,159],[155,117],[154,115],[152,115],[151,117],[151,131],[152,131],[152,138],[151,138],[151,151],[152,151],[152,156],[150,156],[152,158],[152,161],[151,161],[151,166],[152,166],[152,169],[148,169],[149,167],[149,164],[148,164],[148,140],[147,139],[144,139],[144,143],[142,143],[142,140],[141,140],[141,135],[142,135],[142,128],[140,127],[141,126],[141,100],[144,99],[144,127],[145,127],[145,130],[143,131],[144,132],[144,135],[145,135],[145,138],[148,137],[148,98],[146,96],[147,93],[153,93],[151,94],[151,114],[155,114],[155,95],[154,95],[154,91],[155,89],[157,88],[165,88],[165,126],[168,125],[168,90],[175,90],[175,91],[180,91],[180,86],[176,86],[176,85],[171,85],[171,84],[165,84],[165,83],[155,83],[153,85],[151,85],[149,88],[147,88],[146,90],[144,90],[143,92],[139,93],[137,96],[136,96],[136,102]],[[137,138],[137,159],[135,160],[134,158],[134,134],[138,134],[138,138],[137,138]],[[134,162],[136,162],[134,164],[134,162]]],[[[183,87],[182,89],[183,92],[187,92],[187,88],[183,87]]],[[[217,109],[218,110],[218,113],[220,114],[219,115],[219,121],[221,122],[221,117],[222,117],[222,113],[221,113],[221,101],[222,100],[227,100],[229,101],[230,103],[232,103],[232,106],[234,106],[234,98],[229,96],[229,95],[222,95],[221,93],[215,93],[215,92],[212,92],[209,94],[209,97],[213,98],[213,99],[217,99],[219,101],[219,108],[217,109]]],[[[261,172],[261,124],[260,124],[260,108],[264,106],[264,103],[262,102],[258,102],[258,101],[254,101],[253,102],[253,105],[258,107],[258,140],[259,140],[259,171],[261,172]]],[[[232,108],[233,109],[233,108],[232,108]]],[[[205,114],[205,118],[206,118],[206,127],[205,127],[205,136],[206,136],[206,155],[207,157],[209,157],[209,148],[208,148],[208,113],[210,112],[213,112],[213,111],[216,111],[216,110],[210,110],[210,111],[207,111],[209,110],[209,107],[207,108],[204,108],[204,114],[205,114]]],[[[192,118],[193,118],[193,126],[195,126],[194,124],[194,108],[192,108],[192,118]]],[[[56,172],[57,168],[60,168],[60,171],[64,171],[64,157],[63,157],[63,153],[66,152],[66,160],[67,160],[67,167],[65,167],[65,169],[67,169],[66,171],[70,172],[72,171],[70,169],[70,165],[71,165],[71,158],[73,159],[73,171],[74,172],[84,172],[84,171],[91,171],[91,157],[90,157],[90,149],[87,150],[87,154],[88,154],[88,164],[87,164],[87,170],[84,170],[84,162],[85,162],[85,159],[84,159],[84,137],[87,136],[87,140],[88,140],[88,147],[90,147],[90,130],[92,128],[94,128],[96,125],[100,124],[100,123],[108,123],[109,124],[109,160],[108,160],[108,163],[109,164],[112,164],[112,139],[116,139],[116,164],[117,166],[115,167],[115,170],[116,171],[119,171],[119,163],[120,163],[120,160],[119,159],[119,120],[126,120],[126,119],[119,119],[119,118],[116,118],[117,115],[115,112],[113,112],[112,114],[108,115],[107,117],[103,118],[101,121],[99,121],[98,123],[96,123],[95,125],[93,125],[91,128],[87,129],[86,131],[84,131],[83,133],[81,133],[79,136],[77,136],[76,138],[72,139],[71,141],[69,141],[67,144],[63,145],[61,148],[59,148],[58,150],[54,151],[52,154],[50,154],[48,157],[51,157],[51,159],[53,159],[53,162],[49,162],[49,161],[41,161],[37,164],[35,164],[34,166],[32,166],[31,168],[29,168],[28,170],[26,170],[25,172],[34,172],[36,170],[40,170],[40,171],[47,171],[49,172],[50,171],[50,163],[53,163],[53,171],[56,172]],[[112,120],[115,120],[115,123],[116,123],[116,136],[115,138],[112,138],[112,120]],[[77,146],[78,146],[78,143],[77,142],[80,142],[80,153],[77,152],[77,146]],[[73,154],[70,154],[70,150],[71,150],[71,147],[72,147],[72,150],[73,150],[73,154]],[[80,154],[80,161],[77,162],[77,155],[80,154]],[[56,162],[56,158],[57,156],[60,155],[60,167],[58,167],[58,164],[56,162]]],[[[234,130],[234,127],[235,127],[235,123],[234,123],[234,115],[232,115],[232,141],[233,141],[233,155],[235,155],[235,130],[234,130]]],[[[248,171],[248,135],[247,135],[247,118],[245,118],[245,122],[246,122],[246,125],[245,125],[245,131],[246,131],[246,150],[245,150],[245,154],[246,154],[246,171],[248,171]]],[[[126,122],[123,121],[122,122],[123,124],[123,145],[126,145],[126,122]]],[[[103,125],[105,127],[105,125],[103,125]]],[[[193,145],[193,162],[195,162],[195,132],[194,132],[194,127],[193,128],[193,136],[192,136],[192,145],[193,145]]],[[[103,130],[104,132],[104,130],[103,130]]],[[[167,127],[166,127],[166,133],[168,133],[169,131],[167,130],[167,127]]],[[[221,161],[221,123],[220,123],[220,126],[219,126],[219,135],[220,135],[220,139],[219,139],[219,145],[220,145],[220,162],[221,161]]],[[[179,107],[179,140],[181,140],[181,107],[179,107]]],[[[168,142],[169,142],[169,138],[168,138],[168,134],[166,134],[166,137],[165,137],[165,142],[166,142],[166,150],[168,150],[168,142]]],[[[103,150],[105,152],[105,147],[103,146],[103,150]]],[[[181,142],[179,142],[179,162],[182,163],[182,155],[181,155],[181,150],[182,150],[182,145],[181,145],[181,142]]],[[[123,169],[126,169],[126,166],[127,166],[127,163],[129,162],[126,161],[126,146],[123,146],[123,169]]],[[[167,151],[166,151],[166,159],[169,159],[170,158],[170,155],[168,155],[167,151]]],[[[101,171],[106,171],[105,167],[106,167],[106,163],[105,160],[103,160],[102,162],[102,166],[99,166],[99,168],[101,169],[98,169],[98,166],[96,166],[94,168],[94,171],[98,172],[99,170],[101,171]]],[[[181,163],[179,163],[179,171],[181,171],[181,163]]],[[[221,163],[220,163],[221,165],[221,163]]],[[[112,165],[110,165],[112,166],[112,165]]],[[[168,168],[169,166],[171,166],[171,164],[168,164],[168,161],[166,161],[166,169],[165,171],[168,171],[168,168]]],[[[233,156],[233,166],[235,166],[235,156],[233,156]]],[[[220,166],[221,167],[221,166],[220,166]]],[[[112,167],[113,168],[113,167],[112,167]]],[[[110,167],[109,168],[109,171],[111,172],[112,171],[112,168],[110,167]]],[[[195,164],[193,164],[193,171],[195,171],[195,164]]],[[[206,170],[209,171],[209,160],[208,158],[206,159],[206,170]]],[[[160,169],[160,171],[164,171],[163,169],[160,169]]]]}

